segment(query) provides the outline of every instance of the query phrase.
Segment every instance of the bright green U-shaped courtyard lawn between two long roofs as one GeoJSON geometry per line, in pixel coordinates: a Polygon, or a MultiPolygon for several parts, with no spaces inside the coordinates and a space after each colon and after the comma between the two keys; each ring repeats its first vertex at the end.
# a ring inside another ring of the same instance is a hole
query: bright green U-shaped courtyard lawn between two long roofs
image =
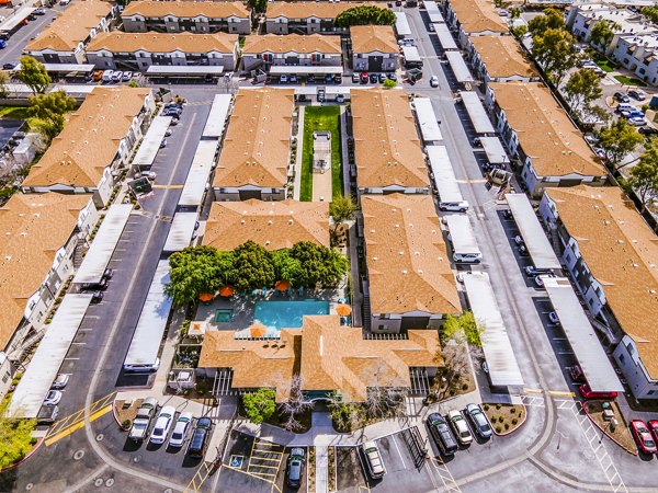
{"type": "Polygon", "coordinates": [[[302,154],[299,200],[313,200],[313,133],[331,131],[331,195],[342,195],[342,159],[340,141],[340,106],[306,106],[302,154]]]}

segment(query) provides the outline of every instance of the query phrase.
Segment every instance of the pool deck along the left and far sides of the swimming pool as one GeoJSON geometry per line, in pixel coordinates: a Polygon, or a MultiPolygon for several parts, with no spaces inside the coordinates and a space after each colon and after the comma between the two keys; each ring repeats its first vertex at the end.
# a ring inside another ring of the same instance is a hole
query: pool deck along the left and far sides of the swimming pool
{"type": "Polygon", "coordinates": [[[336,306],[340,298],[345,298],[344,287],[337,289],[306,289],[304,296],[298,296],[295,291],[292,296],[276,294],[273,289],[268,290],[266,296],[245,297],[231,296],[230,298],[217,297],[209,303],[200,303],[196,309],[195,321],[206,321],[207,330],[217,331],[245,331],[248,333],[249,326],[253,324],[253,313],[257,301],[304,301],[306,299],[316,299],[318,301],[329,301],[329,313],[336,314],[336,306]],[[232,310],[232,319],[230,322],[216,322],[216,310],[228,309],[232,310]]]}

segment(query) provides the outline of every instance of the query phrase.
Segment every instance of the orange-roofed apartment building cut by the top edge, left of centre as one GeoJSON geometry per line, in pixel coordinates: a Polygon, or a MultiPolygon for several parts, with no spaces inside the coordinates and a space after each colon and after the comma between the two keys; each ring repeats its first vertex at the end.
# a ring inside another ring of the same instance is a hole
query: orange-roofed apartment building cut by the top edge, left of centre
{"type": "Polygon", "coordinates": [[[136,1],[121,14],[126,33],[249,34],[251,14],[242,2],[136,1]]]}

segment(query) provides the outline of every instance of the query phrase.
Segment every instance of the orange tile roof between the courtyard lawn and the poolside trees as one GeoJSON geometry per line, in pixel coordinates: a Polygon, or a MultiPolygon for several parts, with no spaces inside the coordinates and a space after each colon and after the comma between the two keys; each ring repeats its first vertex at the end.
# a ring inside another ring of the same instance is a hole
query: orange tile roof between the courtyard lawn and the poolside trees
{"type": "Polygon", "coordinates": [[[232,250],[248,240],[268,250],[288,249],[299,241],[329,246],[329,204],[254,198],[214,202],[203,244],[232,250]]]}

